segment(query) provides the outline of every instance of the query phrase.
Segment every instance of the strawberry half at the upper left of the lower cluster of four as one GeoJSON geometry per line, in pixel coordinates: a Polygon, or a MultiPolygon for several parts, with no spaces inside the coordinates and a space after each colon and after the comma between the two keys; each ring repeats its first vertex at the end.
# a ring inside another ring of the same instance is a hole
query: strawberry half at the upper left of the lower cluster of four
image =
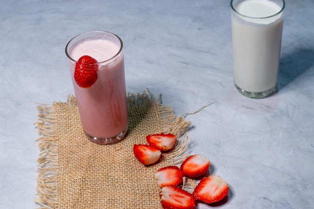
{"type": "Polygon", "coordinates": [[[155,172],[160,187],[174,185],[178,186],[183,181],[184,174],[177,166],[167,166],[155,172]]]}

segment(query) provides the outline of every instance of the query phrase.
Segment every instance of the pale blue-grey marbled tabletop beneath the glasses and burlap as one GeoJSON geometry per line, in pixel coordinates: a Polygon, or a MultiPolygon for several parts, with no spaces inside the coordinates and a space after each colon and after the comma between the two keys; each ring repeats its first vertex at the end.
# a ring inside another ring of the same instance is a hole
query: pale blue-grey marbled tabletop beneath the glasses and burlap
{"type": "Polygon", "coordinates": [[[286,0],[279,92],[256,100],[233,86],[228,0],[2,0],[0,208],[38,207],[36,107],[74,93],[65,45],[91,30],[123,40],[127,91],[162,93],[177,116],[213,101],[186,119],[191,153],[230,185],[218,208],[313,208],[313,11],[286,0]]]}

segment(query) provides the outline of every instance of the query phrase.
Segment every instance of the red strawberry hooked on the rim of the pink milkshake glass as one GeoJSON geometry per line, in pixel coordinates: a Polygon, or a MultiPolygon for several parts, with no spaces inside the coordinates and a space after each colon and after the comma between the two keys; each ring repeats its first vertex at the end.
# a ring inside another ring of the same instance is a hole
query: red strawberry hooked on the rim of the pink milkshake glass
{"type": "Polygon", "coordinates": [[[79,87],[89,88],[97,80],[97,61],[87,55],[82,56],[75,65],[74,80],[79,87]]]}

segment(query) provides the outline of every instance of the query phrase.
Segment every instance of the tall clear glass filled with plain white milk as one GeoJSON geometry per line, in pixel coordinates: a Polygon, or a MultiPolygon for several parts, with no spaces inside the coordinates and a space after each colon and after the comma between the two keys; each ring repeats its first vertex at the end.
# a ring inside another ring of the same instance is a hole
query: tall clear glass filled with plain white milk
{"type": "Polygon", "coordinates": [[[231,0],[233,77],[249,98],[277,92],[284,0],[231,0]]]}

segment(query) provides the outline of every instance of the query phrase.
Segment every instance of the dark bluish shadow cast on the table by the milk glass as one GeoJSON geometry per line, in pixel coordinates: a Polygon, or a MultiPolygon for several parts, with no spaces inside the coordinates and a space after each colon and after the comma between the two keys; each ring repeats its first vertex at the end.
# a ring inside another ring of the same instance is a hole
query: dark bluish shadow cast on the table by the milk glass
{"type": "Polygon", "coordinates": [[[314,65],[314,49],[299,49],[281,58],[277,87],[280,91],[314,65]]]}

